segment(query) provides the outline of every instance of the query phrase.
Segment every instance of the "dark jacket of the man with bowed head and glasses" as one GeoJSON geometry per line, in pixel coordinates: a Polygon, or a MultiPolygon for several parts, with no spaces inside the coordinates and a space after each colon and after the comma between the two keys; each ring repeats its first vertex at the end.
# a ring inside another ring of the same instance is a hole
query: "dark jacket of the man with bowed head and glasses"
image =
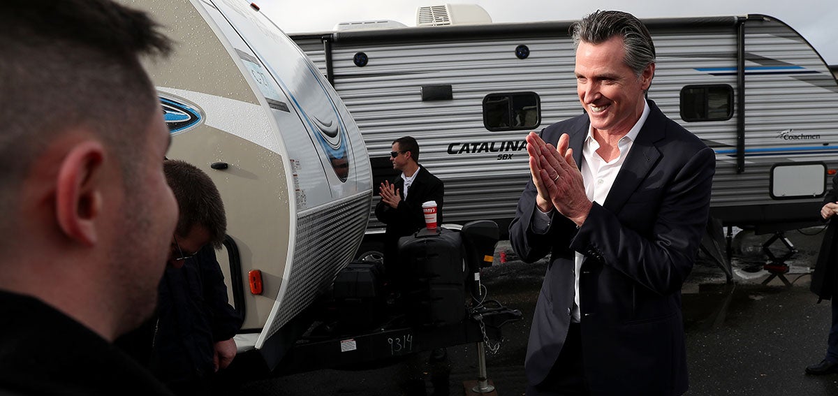
{"type": "Polygon", "coordinates": [[[240,327],[241,316],[227,301],[215,249],[205,246],[183,267],[166,268],[156,315],[117,344],[176,393],[201,393],[215,373],[215,342],[229,340],[240,327]]]}

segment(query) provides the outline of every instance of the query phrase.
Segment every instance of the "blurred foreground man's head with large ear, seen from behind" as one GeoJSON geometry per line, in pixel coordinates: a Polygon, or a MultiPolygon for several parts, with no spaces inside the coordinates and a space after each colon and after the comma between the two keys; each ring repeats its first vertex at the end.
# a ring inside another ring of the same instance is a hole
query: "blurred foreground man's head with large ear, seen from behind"
{"type": "Polygon", "coordinates": [[[168,128],[138,59],[169,48],[108,0],[0,2],[0,289],[106,338],[153,310],[176,221],[168,128]]]}

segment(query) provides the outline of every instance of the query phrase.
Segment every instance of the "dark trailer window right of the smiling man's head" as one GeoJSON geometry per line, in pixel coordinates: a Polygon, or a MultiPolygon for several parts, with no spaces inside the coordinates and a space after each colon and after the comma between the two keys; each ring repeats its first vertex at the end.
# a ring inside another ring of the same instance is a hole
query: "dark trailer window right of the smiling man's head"
{"type": "Polygon", "coordinates": [[[731,119],[733,117],[732,86],[685,86],[681,88],[680,116],[686,122],[731,119]]]}

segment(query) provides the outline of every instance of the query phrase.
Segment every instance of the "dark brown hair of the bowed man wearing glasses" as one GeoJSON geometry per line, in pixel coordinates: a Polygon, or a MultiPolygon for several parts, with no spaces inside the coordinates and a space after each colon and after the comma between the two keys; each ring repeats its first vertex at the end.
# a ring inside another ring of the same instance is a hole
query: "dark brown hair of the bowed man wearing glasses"
{"type": "Polygon", "coordinates": [[[164,160],[163,173],[180,211],[174,232],[186,236],[192,227],[204,227],[209,232],[209,242],[220,248],[227,233],[227,216],[218,188],[209,175],[178,159],[164,160]]]}

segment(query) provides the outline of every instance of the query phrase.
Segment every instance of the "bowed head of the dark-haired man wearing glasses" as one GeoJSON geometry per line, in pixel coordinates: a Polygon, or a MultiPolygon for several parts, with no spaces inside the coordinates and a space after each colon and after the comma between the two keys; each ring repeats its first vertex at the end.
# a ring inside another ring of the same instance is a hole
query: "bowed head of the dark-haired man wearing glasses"
{"type": "Polygon", "coordinates": [[[207,243],[221,247],[227,232],[227,217],[218,188],[203,170],[184,161],[167,159],[163,171],[178,201],[179,213],[168,263],[180,267],[207,243]]]}

